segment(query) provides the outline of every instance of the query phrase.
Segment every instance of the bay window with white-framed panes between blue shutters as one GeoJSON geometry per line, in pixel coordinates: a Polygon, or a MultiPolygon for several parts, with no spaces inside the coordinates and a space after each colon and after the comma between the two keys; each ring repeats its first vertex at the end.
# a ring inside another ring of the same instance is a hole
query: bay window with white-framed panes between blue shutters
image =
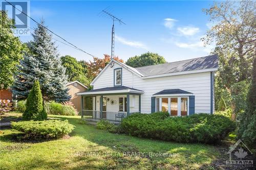
{"type": "Polygon", "coordinates": [[[156,98],[156,112],[168,112],[170,116],[188,115],[188,96],[156,98]]]}

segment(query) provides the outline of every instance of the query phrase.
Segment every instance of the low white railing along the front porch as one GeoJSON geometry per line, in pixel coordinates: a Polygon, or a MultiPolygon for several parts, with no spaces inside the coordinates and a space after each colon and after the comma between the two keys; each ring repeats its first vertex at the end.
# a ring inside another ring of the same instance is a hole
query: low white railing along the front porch
{"type": "MultiPolygon", "coordinates": [[[[134,113],[134,112],[133,112],[134,113]]],[[[130,114],[133,114],[130,113],[130,114]]],[[[119,124],[122,119],[127,117],[127,112],[110,112],[110,111],[97,111],[97,110],[82,110],[81,117],[87,120],[101,120],[105,119],[109,122],[119,124]]]]}

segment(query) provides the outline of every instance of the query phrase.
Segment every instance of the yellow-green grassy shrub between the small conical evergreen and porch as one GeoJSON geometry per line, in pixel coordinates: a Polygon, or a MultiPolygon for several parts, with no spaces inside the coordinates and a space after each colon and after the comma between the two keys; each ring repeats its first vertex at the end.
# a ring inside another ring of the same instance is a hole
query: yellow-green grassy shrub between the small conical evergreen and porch
{"type": "Polygon", "coordinates": [[[55,115],[76,115],[76,110],[70,105],[62,105],[56,102],[47,102],[45,104],[45,109],[47,114],[55,114],[55,115]]]}

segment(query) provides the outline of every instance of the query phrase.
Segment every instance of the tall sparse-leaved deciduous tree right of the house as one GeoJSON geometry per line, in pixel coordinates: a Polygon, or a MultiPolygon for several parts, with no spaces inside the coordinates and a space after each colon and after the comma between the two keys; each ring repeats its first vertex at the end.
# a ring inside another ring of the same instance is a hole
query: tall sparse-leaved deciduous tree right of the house
{"type": "MultiPolygon", "coordinates": [[[[255,10],[255,1],[218,2],[204,9],[214,26],[202,40],[205,44],[216,42],[215,53],[219,56],[218,89],[225,88],[233,97],[239,92],[232,91],[235,88],[231,87],[251,78],[256,40],[255,10]]],[[[231,108],[235,115],[239,109],[233,101],[231,108]]]]}

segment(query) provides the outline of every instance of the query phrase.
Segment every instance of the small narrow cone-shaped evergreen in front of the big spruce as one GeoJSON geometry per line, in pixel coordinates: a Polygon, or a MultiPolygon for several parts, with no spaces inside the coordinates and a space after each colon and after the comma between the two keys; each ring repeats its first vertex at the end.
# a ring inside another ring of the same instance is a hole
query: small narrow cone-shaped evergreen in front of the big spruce
{"type": "Polygon", "coordinates": [[[26,110],[23,113],[24,120],[45,120],[47,113],[42,102],[42,93],[38,80],[34,82],[26,102],[26,110]]]}

